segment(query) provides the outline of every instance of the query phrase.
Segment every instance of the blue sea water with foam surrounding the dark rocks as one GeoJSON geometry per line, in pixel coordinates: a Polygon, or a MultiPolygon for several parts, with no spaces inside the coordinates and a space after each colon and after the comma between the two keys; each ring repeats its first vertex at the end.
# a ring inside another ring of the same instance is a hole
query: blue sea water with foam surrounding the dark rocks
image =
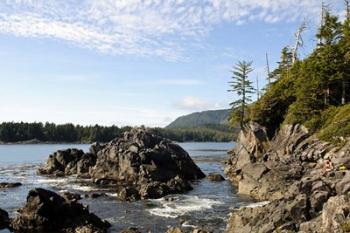
{"type": "MultiPolygon", "coordinates": [[[[218,172],[223,175],[227,151],[234,143],[180,143],[204,173],[218,172]]],[[[213,232],[223,232],[232,210],[251,204],[247,197],[240,196],[229,181],[210,182],[207,179],[193,184],[193,190],[181,195],[170,195],[155,200],[123,202],[113,190],[103,190],[91,185],[89,180],[75,177],[48,178],[36,174],[49,154],[58,149],[78,148],[88,151],[89,145],[0,145],[0,182],[21,182],[23,185],[0,190],[0,208],[11,217],[23,206],[28,191],[40,187],[55,192],[70,191],[82,196],[93,192],[106,196],[81,202],[99,217],[112,223],[110,232],[119,232],[128,227],[138,227],[144,232],[165,232],[168,227],[199,226],[213,232]]],[[[1,233],[7,231],[0,231],[1,233]]]]}

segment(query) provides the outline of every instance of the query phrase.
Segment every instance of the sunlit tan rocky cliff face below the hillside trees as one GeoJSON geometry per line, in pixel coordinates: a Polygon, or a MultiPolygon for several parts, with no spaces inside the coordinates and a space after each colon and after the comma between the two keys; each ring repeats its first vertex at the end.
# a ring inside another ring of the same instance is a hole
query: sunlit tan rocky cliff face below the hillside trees
{"type": "Polygon", "coordinates": [[[348,169],[350,140],[337,147],[302,125],[286,125],[268,140],[266,130],[251,123],[225,172],[239,193],[269,203],[235,211],[227,232],[347,232],[348,169]]]}

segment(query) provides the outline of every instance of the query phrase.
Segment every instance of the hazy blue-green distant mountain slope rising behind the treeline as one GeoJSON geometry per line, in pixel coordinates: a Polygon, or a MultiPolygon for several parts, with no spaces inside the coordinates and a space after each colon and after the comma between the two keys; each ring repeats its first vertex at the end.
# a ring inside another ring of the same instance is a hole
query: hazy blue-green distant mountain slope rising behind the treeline
{"type": "Polygon", "coordinates": [[[188,128],[204,125],[224,125],[228,124],[229,116],[229,109],[195,112],[177,118],[166,128],[188,128]]]}

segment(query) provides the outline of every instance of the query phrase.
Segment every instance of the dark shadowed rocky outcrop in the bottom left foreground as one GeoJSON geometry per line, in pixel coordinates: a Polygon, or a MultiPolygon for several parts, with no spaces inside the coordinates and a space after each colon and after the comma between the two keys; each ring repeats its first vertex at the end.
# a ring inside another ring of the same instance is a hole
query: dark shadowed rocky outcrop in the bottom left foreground
{"type": "Polygon", "coordinates": [[[27,203],[11,222],[15,232],[104,233],[109,226],[78,203],[76,197],[40,188],[29,192],[27,203]]]}

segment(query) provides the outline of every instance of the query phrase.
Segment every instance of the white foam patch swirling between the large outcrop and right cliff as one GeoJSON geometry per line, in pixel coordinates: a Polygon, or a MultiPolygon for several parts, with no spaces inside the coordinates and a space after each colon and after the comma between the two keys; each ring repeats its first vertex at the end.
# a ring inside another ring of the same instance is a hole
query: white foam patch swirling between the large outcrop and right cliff
{"type": "Polygon", "coordinates": [[[167,201],[164,198],[153,200],[161,207],[149,209],[148,212],[166,218],[177,218],[189,212],[212,209],[214,205],[223,204],[220,201],[199,198],[198,196],[180,196],[179,199],[167,201]]]}

